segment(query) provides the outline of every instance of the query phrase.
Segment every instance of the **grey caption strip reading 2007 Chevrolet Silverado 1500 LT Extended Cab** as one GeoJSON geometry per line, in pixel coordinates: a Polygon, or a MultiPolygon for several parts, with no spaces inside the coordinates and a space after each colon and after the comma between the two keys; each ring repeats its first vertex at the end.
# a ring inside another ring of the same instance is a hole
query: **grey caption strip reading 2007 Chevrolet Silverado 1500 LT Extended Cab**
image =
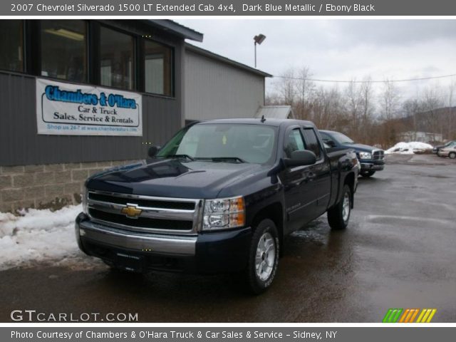
{"type": "Polygon", "coordinates": [[[448,0],[0,1],[3,16],[454,16],[448,0]],[[35,1],[33,1],[35,2],[35,1]]]}

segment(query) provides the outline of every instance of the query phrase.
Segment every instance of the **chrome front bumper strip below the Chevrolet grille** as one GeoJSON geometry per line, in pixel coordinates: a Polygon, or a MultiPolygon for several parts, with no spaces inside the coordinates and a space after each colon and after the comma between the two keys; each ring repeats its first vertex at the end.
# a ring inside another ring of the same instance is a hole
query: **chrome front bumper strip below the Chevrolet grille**
{"type": "Polygon", "coordinates": [[[76,222],[76,235],[78,239],[88,239],[120,249],[175,256],[194,256],[197,242],[197,236],[138,234],[90,221],[76,222]]]}

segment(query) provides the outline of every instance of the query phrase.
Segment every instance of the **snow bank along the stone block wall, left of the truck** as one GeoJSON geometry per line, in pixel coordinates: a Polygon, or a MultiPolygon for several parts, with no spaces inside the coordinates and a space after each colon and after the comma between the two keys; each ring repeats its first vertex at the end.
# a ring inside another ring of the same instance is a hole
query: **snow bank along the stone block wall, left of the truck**
{"type": "Polygon", "coordinates": [[[77,205],[56,212],[28,209],[21,216],[0,212],[0,270],[37,263],[88,266],[93,261],[79,251],[74,234],[81,211],[77,205]]]}

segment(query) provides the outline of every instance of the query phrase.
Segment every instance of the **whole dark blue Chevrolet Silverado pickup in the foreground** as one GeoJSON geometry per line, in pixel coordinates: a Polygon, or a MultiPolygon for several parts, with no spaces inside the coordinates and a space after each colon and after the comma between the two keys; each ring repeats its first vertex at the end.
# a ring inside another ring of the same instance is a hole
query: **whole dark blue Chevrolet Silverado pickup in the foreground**
{"type": "Polygon", "coordinates": [[[79,247],[115,268],[231,272],[258,294],[285,234],[325,212],[333,229],[348,225],[356,154],[327,152],[308,121],[204,121],[149,155],[86,182],[79,247]]]}

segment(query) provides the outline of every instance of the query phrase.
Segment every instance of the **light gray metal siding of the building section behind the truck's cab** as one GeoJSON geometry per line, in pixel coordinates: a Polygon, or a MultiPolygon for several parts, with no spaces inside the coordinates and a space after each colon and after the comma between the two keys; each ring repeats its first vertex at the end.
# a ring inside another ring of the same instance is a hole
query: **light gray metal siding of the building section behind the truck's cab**
{"type": "Polygon", "coordinates": [[[185,52],[185,119],[253,118],[264,105],[264,77],[185,52]]]}

